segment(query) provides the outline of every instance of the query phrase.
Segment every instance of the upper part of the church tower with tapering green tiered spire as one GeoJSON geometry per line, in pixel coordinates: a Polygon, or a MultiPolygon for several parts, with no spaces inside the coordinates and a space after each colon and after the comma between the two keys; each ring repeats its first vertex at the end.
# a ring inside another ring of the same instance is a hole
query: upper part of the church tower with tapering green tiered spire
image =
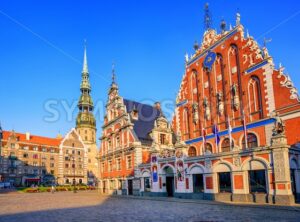
{"type": "Polygon", "coordinates": [[[96,120],[93,114],[94,103],[91,93],[91,84],[89,80],[89,71],[86,55],[86,44],[84,45],[83,67],[81,72],[81,95],[78,101],[79,113],[76,120],[76,129],[84,142],[94,142],[96,131],[96,120]]]}

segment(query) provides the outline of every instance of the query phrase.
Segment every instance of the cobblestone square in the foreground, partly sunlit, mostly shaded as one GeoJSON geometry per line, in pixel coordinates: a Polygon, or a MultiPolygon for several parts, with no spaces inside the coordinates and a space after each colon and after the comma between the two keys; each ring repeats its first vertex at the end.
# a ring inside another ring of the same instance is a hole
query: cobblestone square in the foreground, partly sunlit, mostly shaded
{"type": "Polygon", "coordinates": [[[230,205],[95,191],[0,194],[0,221],[299,221],[299,207],[230,205]]]}

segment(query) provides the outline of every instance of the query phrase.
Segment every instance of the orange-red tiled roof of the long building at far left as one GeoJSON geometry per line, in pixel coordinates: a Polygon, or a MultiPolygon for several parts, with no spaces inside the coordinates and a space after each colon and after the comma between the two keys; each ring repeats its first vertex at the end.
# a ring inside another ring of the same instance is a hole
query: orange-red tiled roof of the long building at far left
{"type": "MultiPolygon", "coordinates": [[[[12,135],[11,131],[3,131],[3,140],[8,140],[8,137],[12,135]]],[[[48,146],[59,146],[62,138],[49,138],[43,136],[35,136],[30,134],[30,140],[26,140],[26,134],[24,133],[15,133],[16,137],[18,138],[19,142],[24,143],[32,143],[38,145],[48,145],[48,146]]]]}

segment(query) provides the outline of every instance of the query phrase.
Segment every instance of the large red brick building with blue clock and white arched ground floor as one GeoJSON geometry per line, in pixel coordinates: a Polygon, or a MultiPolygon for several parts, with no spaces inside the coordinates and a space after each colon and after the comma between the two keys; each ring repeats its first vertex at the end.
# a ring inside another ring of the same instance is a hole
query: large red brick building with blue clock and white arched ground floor
{"type": "Polygon", "coordinates": [[[152,152],[151,163],[139,166],[141,181],[151,179],[151,192],[141,186],[141,193],[293,203],[300,195],[300,97],[239,14],[235,27],[223,21],[221,30],[208,24],[186,56],[172,122],[181,138],[171,156],[152,152]]]}

